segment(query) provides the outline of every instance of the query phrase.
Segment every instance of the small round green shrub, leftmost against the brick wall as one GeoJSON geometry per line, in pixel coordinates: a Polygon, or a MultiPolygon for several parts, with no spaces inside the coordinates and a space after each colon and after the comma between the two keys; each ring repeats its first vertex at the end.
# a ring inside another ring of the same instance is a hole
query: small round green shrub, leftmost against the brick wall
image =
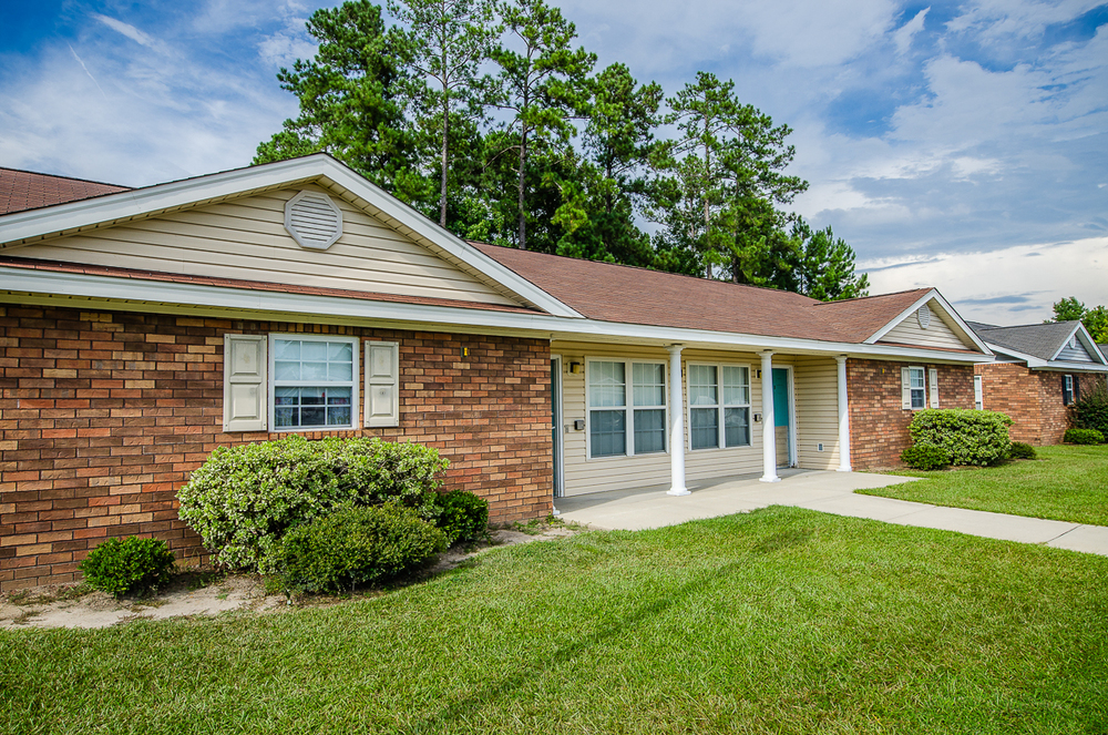
{"type": "Polygon", "coordinates": [[[173,579],[173,552],[160,539],[109,539],[78,568],[90,586],[113,596],[156,590],[173,579]]]}

